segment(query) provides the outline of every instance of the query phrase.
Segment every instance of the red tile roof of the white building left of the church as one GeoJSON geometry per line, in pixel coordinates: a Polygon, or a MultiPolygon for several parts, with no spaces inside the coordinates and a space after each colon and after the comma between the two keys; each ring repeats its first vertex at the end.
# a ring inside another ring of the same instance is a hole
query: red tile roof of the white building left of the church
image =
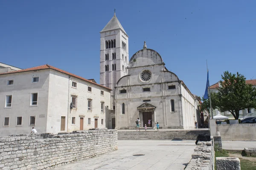
{"type": "MultiPolygon", "coordinates": [[[[67,74],[69,76],[73,76],[73,77],[76,77],[78,79],[81,79],[81,80],[84,80],[86,82],[90,82],[92,84],[95,84],[95,85],[99,85],[95,82],[92,82],[91,80],[87,80],[87,79],[84,79],[83,77],[80,77],[80,76],[77,76],[76,74],[72,74],[72,73],[69,73],[67,71],[64,71],[64,70],[61,70],[59,68],[56,68],[56,67],[53,67],[51,65],[40,65],[40,66],[37,66],[37,67],[32,67],[32,68],[26,68],[26,69],[22,69],[22,70],[18,70],[18,71],[10,71],[10,72],[6,72],[6,73],[0,73],[0,75],[3,75],[3,74],[14,74],[14,73],[22,73],[22,72],[27,72],[27,71],[38,71],[38,70],[45,70],[45,69],[52,69],[52,70],[55,70],[55,71],[58,71],[58,72],[61,72],[61,73],[64,73],[64,74],[67,74]]],[[[99,85],[103,88],[106,88],[108,90],[111,90],[111,88],[107,88],[103,85],[99,85]]]]}

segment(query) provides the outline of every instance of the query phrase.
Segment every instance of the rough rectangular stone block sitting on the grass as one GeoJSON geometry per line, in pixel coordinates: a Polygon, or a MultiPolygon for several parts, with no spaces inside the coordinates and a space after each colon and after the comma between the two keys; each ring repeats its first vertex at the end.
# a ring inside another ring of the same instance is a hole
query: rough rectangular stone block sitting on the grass
{"type": "Polygon", "coordinates": [[[231,157],[217,157],[216,170],[241,170],[240,159],[231,157]]]}

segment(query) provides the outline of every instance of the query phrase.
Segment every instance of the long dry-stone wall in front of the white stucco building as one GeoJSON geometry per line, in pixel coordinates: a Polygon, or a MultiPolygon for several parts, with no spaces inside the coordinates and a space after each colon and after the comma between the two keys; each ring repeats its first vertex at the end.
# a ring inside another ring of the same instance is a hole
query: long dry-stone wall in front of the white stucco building
{"type": "Polygon", "coordinates": [[[44,136],[0,138],[0,170],[44,170],[117,150],[117,131],[106,128],[44,136]]]}

